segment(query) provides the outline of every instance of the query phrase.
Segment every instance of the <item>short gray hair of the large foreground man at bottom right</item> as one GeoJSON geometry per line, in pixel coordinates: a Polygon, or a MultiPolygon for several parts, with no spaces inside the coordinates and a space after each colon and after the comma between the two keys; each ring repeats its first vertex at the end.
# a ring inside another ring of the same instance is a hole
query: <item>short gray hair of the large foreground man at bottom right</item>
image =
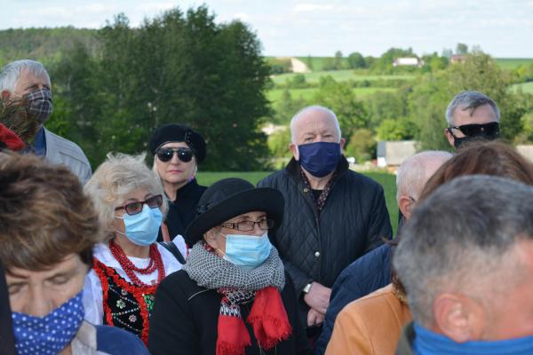
{"type": "Polygon", "coordinates": [[[519,264],[511,254],[517,243],[533,240],[531,201],[529,185],[475,175],[440,186],[414,209],[394,253],[394,268],[416,321],[431,326],[434,301],[444,292],[483,300],[495,280],[498,296],[523,279],[520,272],[513,278],[502,272],[509,272],[504,266],[511,262],[519,264]]]}

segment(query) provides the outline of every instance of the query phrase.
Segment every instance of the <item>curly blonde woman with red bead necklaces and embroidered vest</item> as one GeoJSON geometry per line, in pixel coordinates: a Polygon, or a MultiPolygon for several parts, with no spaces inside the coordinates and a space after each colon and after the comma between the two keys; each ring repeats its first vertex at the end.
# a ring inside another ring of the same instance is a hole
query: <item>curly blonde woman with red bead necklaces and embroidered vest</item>
{"type": "Polygon", "coordinates": [[[147,343],[155,289],[181,268],[155,242],[167,208],[163,188],[144,155],[108,154],[85,192],[107,236],[94,249],[93,271],[85,282],[85,319],[129,330],[147,343]]]}

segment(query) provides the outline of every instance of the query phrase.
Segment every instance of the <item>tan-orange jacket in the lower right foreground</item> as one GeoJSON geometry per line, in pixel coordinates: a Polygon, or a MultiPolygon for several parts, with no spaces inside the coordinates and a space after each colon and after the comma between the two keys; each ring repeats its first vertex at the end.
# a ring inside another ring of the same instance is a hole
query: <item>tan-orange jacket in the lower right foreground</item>
{"type": "Polygon", "coordinates": [[[326,355],[394,355],[402,327],[411,319],[409,305],[389,284],[338,313],[326,355]]]}

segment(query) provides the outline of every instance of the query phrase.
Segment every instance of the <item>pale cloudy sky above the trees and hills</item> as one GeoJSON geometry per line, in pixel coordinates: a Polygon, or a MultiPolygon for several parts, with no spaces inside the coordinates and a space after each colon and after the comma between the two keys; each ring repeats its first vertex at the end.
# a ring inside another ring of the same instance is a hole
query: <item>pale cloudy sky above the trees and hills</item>
{"type": "Polygon", "coordinates": [[[481,47],[497,58],[533,58],[533,0],[0,0],[0,29],[101,28],[123,12],[132,26],[165,10],[206,4],[218,22],[242,20],[269,56],[418,55],[481,47]]]}

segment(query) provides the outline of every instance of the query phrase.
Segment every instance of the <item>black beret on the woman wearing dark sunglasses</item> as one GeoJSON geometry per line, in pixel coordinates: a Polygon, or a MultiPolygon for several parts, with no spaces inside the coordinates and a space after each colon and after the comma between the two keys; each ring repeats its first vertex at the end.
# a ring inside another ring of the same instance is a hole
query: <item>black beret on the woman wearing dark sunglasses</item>
{"type": "Polygon", "coordinates": [[[194,152],[197,162],[203,162],[206,154],[205,140],[200,133],[184,124],[169,123],[159,127],[150,138],[150,152],[171,142],[185,142],[194,152]]]}

